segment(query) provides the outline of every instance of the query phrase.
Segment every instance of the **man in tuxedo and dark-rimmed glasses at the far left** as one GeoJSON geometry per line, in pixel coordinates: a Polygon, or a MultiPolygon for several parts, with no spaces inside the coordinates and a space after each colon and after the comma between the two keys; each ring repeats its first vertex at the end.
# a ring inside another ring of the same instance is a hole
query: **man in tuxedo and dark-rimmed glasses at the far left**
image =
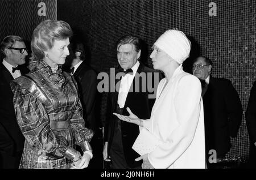
{"type": "Polygon", "coordinates": [[[5,37],[0,49],[4,55],[0,63],[0,168],[14,169],[19,167],[24,136],[16,122],[10,82],[28,73],[24,66],[28,53],[19,36],[5,37]]]}

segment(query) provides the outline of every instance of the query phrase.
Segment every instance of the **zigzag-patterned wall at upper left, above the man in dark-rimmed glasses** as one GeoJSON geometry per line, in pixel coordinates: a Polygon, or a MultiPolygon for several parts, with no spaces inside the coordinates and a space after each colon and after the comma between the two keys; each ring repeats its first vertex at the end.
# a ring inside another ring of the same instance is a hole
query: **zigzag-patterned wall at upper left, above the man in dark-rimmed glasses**
{"type": "Polygon", "coordinates": [[[31,40],[35,27],[46,19],[57,19],[56,0],[1,0],[0,39],[18,35],[31,40]]]}

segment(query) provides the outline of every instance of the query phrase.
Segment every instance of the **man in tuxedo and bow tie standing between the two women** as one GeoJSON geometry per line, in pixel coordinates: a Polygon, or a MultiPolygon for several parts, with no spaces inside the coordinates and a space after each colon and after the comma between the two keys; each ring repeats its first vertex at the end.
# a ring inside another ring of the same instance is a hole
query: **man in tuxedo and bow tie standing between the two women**
{"type": "Polygon", "coordinates": [[[142,119],[150,118],[155,97],[149,96],[154,92],[148,91],[148,82],[152,82],[156,88],[160,75],[139,62],[140,57],[141,41],[137,37],[126,35],[118,40],[117,59],[121,68],[115,72],[122,76],[121,81],[115,79],[116,91],[108,94],[103,150],[104,160],[110,158],[113,169],[141,168],[142,164],[142,161],[135,161],[139,154],[131,148],[139,134],[139,126],[121,121],[113,115],[129,115],[126,110],[129,107],[142,119]]]}

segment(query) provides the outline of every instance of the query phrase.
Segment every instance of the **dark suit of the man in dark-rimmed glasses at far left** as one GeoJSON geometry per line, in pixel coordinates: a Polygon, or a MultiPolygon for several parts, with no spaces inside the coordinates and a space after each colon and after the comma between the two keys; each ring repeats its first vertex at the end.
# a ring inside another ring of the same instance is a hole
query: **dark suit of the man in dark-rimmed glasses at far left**
{"type": "MultiPolygon", "coordinates": [[[[20,73],[27,74],[26,66],[20,66],[20,73]]],[[[22,156],[24,136],[20,132],[13,105],[10,82],[13,76],[0,62],[0,167],[18,168],[22,156]],[[3,138],[6,137],[6,138],[3,138]],[[9,145],[6,145],[9,144],[9,145]]]]}

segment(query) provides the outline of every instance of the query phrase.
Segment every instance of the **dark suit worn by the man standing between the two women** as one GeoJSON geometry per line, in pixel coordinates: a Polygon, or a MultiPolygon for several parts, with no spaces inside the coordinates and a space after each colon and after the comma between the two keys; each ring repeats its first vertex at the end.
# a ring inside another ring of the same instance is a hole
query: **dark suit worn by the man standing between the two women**
{"type": "MultiPolygon", "coordinates": [[[[154,80],[154,70],[151,68],[148,68],[144,66],[142,63],[140,63],[138,70],[138,74],[141,72],[152,72],[152,80],[154,80]]],[[[137,75],[138,75],[137,74],[137,75]]],[[[135,75],[136,76],[136,75],[135,75]]],[[[159,74],[160,78],[160,74],[159,74]]],[[[134,78],[135,79],[135,78],[134,78]]],[[[110,155],[110,149],[113,148],[113,137],[116,135],[114,134],[115,130],[117,129],[117,126],[121,126],[121,135],[122,137],[119,137],[119,147],[123,147],[123,156],[125,157],[125,161],[129,168],[137,168],[141,166],[142,161],[135,161],[135,158],[139,157],[139,154],[135,152],[131,147],[133,146],[133,143],[135,139],[137,138],[139,134],[139,126],[135,125],[133,123],[127,123],[124,121],[120,121],[115,115],[113,115],[114,112],[121,113],[123,115],[129,115],[126,108],[129,107],[131,109],[131,112],[133,112],[135,115],[137,115],[141,119],[149,119],[152,106],[154,105],[155,98],[148,98],[148,95],[150,92],[148,92],[148,89],[146,92],[142,92],[142,87],[147,87],[147,80],[141,81],[140,78],[139,82],[139,92],[130,92],[127,94],[125,106],[122,108],[122,112],[117,112],[117,100],[118,100],[118,92],[110,92],[108,95],[108,104],[107,104],[107,116],[106,116],[106,122],[105,122],[105,130],[104,130],[104,142],[108,142],[108,155],[110,155]],[[144,84],[143,84],[144,83],[144,84]]],[[[159,80],[159,79],[158,79],[159,80]]],[[[119,80],[116,80],[116,83],[119,80]]],[[[154,82],[153,82],[154,85],[154,82]]],[[[133,87],[134,80],[133,80],[133,87]]],[[[114,137],[114,139],[116,136],[114,137]]],[[[115,140],[116,143],[117,140],[115,140]]],[[[115,157],[110,157],[112,160],[115,157]]]]}

